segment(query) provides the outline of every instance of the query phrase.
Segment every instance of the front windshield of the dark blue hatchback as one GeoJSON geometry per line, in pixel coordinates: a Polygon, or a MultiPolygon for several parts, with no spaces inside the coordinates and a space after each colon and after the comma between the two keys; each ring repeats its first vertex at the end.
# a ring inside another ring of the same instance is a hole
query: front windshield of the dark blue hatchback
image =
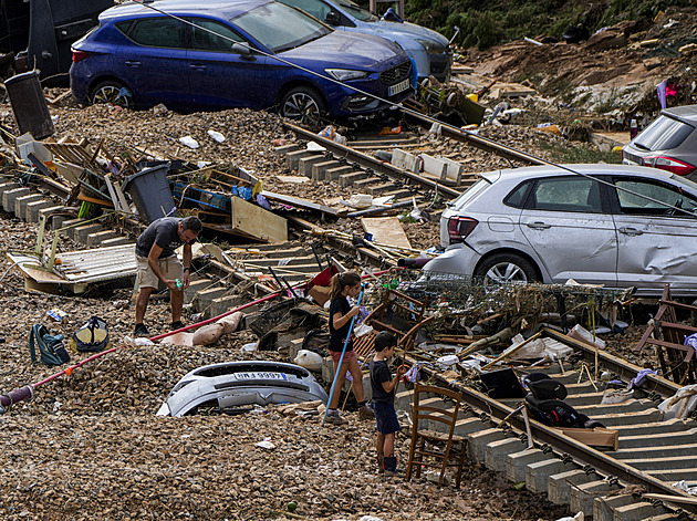
{"type": "Polygon", "coordinates": [[[230,21],[273,52],[303,45],[332,32],[313,18],[279,2],[266,3],[230,21]]]}

